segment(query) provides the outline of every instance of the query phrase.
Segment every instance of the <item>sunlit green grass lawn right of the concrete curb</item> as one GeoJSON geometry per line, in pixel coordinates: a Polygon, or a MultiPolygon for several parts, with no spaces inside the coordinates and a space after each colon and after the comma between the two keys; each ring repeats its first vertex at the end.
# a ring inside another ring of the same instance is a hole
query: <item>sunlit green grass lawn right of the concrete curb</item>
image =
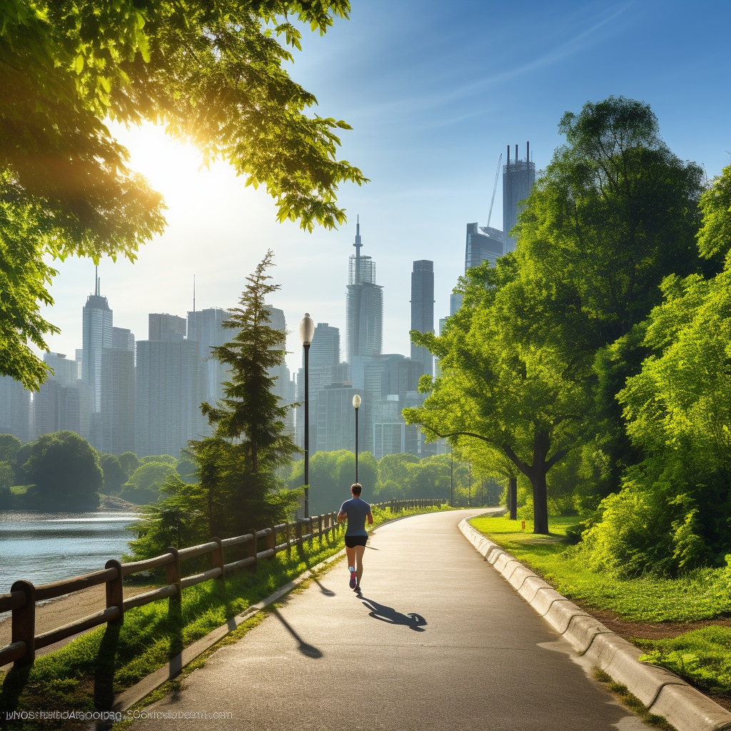
{"type": "MultiPolygon", "coordinates": [[[[580,550],[566,542],[566,529],[577,518],[551,518],[550,536],[534,535],[530,520],[526,520],[525,531],[520,530],[520,521],[507,518],[470,522],[589,612],[594,608],[616,613],[626,621],[691,626],[700,621],[725,621],[731,615],[728,567],[696,569],[676,579],[646,575],[621,580],[588,569],[580,550]]],[[[722,696],[718,700],[731,707],[731,626],[708,624],[652,640],[642,637],[642,624],[637,628],[637,635],[628,639],[645,650],[645,662],[667,667],[703,692],[722,696]]]]}

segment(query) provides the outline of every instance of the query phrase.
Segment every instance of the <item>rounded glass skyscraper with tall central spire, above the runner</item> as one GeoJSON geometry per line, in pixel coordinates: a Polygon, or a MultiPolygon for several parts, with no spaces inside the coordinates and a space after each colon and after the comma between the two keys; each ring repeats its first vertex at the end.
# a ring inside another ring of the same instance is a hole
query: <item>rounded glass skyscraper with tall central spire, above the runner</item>
{"type": "Polygon", "coordinates": [[[376,284],[376,262],[362,257],[360,221],[355,224],[355,256],[348,263],[346,360],[379,355],[383,346],[383,288],[376,284]]]}

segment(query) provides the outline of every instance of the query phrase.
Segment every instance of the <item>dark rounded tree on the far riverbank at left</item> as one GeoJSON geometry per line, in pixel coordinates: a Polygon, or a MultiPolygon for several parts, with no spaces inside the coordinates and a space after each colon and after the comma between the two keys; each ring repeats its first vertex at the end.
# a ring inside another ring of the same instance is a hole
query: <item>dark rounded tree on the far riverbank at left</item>
{"type": "Polygon", "coordinates": [[[44,510],[92,510],[99,506],[99,454],[73,431],[43,434],[23,464],[26,500],[44,510]]]}

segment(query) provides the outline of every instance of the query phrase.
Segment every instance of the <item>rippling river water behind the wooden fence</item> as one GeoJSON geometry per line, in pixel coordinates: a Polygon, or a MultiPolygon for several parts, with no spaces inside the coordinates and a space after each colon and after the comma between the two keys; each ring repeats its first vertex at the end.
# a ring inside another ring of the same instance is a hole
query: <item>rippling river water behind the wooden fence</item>
{"type": "Polygon", "coordinates": [[[132,512],[0,512],[0,594],[17,579],[36,586],[103,569],[128,553],[132,512]]]}

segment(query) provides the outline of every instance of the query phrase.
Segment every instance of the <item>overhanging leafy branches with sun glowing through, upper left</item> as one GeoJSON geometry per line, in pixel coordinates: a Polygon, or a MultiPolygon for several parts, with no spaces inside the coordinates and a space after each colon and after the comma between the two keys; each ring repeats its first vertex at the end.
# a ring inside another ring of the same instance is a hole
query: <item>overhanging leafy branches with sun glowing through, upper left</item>
{"type": "Polygon", "coordinates": [[[57,332],[50,259],[122,255],[162,231],[164,204],[129,169],[107,118],[165,124],[206,164],[224,159],[263,185],[279,219],[333,227],[336,191],[363,183],[336,159],[343,121],[308,116],[316,99],[284,64],[299,26],[321,34],[347,0],[7,0],[0,7],[0,374],[37,388],[46,368],[28,345],[57,332]]]}

